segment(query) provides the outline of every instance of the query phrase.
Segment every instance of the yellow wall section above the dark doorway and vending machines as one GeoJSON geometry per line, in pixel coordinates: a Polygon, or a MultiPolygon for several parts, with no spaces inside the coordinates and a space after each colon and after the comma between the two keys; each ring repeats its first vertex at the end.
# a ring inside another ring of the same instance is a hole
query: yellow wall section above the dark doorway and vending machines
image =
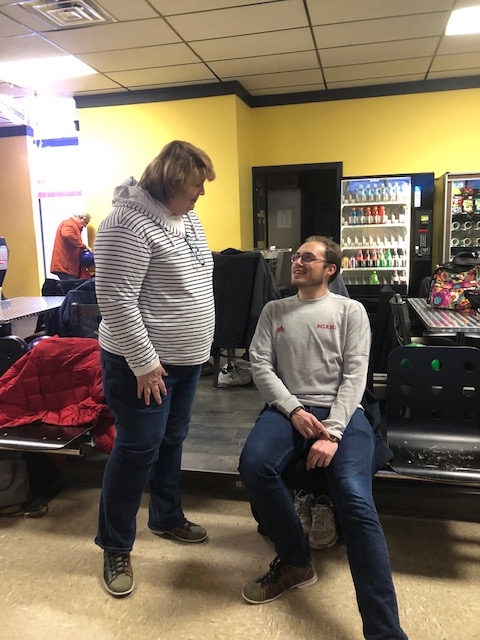
{"type": "Polygon", "coordinates": [[[343,162],[345,176],[480,171],[480,89],[255,109],[256,165],[343,162]]]}

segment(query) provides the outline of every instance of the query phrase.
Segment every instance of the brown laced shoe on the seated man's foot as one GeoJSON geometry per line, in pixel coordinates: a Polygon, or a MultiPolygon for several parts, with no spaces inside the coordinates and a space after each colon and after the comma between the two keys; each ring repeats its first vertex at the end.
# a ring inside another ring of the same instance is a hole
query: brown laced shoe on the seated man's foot
{"type": "Polygon", "coordinates": [[[306,567],[296,567],[285,564],[278,556],[270,563],[270,569],[264,576],[247,582],[243,587],[242,596],[252,604],[263,604],[276,600],[285,591],[298,588],[303,589],[315,584],[317,574],[312,564],[306,567]]]}

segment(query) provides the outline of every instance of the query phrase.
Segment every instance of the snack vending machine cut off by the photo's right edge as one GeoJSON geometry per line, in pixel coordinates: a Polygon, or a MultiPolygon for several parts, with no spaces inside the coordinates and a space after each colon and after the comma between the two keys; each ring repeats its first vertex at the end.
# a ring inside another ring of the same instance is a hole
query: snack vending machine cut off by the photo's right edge
{"type": "Polygon", "coordinates": [[[448,262],[459,251],[480,255],[480,173],[446,173],[436,187],[444,223],[439,262],[448,262]]]}

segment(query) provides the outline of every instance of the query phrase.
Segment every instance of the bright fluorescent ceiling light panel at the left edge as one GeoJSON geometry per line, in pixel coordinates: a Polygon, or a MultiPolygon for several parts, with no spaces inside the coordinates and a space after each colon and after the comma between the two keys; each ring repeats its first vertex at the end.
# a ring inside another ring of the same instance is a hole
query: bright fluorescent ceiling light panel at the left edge
{"type": "Polygon", "coordinates": [[[17,87],[44,89],[67,78],[97,73],[74,56],[35,58],[0,63],[0,79],[17,87]]]}

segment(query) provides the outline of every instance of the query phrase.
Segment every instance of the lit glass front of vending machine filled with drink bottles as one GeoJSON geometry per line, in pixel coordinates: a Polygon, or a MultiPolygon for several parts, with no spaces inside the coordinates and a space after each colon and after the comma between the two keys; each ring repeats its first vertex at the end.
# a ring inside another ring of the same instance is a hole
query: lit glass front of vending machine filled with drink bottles
{"type": "Polygon", "coordinates": [[[347,285],[409,282],[411,178],[347,178],[341,183],[340,241],[347,285]]]}

